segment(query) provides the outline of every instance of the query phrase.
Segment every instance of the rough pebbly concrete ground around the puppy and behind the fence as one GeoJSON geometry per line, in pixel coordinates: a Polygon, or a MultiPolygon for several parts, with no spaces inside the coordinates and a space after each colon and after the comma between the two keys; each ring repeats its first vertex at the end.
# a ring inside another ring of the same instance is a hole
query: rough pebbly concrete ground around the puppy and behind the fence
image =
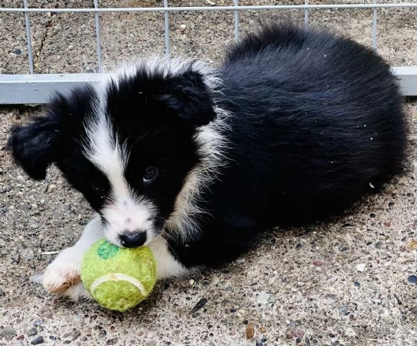
{"type": "MultiPolygon", "coordinates": [[[[91,6],[81,0],[30,3],[91,6]]],[[[205,0],[170,3],[207,5],[205,0]]],[[[161,1],[100,4],[160,6],[161,1]]],[[[22,1],[2,0],[0,6],[21,7],[22,1]]],[[[270,15],[242,13],[242,32],[270,15]]],[[[304,12],[278,17],[301,21],[304,12]]],[[[313,25],[330,26],[365,45],[371,44],[371,19],[370,10],[310,13],[313,25]]],[[[31,24],[36,72],[97,69],[93,15],[31,15],[31,24]]],[[[105,14],[101,24],[105,66],[164,53],[161,13],[105,14]]],[[[170,29],[173,55],[216,63],[233,42],[233,13],[171,14],[170,29]]],[[[417,65],[417,10],[379,10],[378,34],[379,53],[391,64],[417,65]]],[[[0,73],[28,72],[23,16],[0,14],[0,37],[0,73]]],[[[384,193],[329,222],[274,230],[222,269],[159,283],[147,301],[125,314],[93,302],[56,299],[31,283],[56,251],[77,239],[91,210],[55,168],[43,182],[29,180],[4,148],[10,126],[41,113],[40,107],[0,107],[0,345],[416,345],[417,100],[407,100],[405,107],[409,162],[384,193]]]]}

